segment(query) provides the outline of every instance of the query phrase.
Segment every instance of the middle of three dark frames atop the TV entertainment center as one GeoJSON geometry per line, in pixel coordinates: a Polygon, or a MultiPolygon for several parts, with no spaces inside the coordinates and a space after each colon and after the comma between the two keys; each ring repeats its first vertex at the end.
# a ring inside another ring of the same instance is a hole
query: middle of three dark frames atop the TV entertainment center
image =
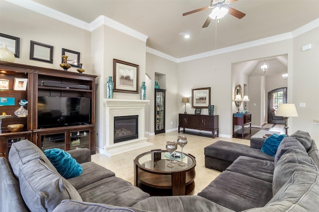
{"type": "Polygon", "coordinates": [[[30,60],[53,63],[53,46],[30,41],[30,60]]]}

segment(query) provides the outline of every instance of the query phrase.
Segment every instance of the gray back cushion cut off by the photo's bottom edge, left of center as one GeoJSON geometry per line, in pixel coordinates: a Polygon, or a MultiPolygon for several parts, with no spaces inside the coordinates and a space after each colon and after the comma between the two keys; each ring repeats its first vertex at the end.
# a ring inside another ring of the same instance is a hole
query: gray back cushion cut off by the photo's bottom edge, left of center
{"type": "Polygon", "coordinates": [[[140,209],[117,207],[98,203],[63,200],[53,212],[145,212],[140,209]]]}

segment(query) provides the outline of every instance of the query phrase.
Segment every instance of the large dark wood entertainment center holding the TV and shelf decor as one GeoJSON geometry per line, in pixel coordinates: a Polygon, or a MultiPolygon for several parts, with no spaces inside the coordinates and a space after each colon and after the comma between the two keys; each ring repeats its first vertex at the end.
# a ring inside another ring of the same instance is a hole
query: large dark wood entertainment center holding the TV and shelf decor
{"type": "Polygon", "coordinates": [[[94,154],[96,77],[0,62],[0,156],[7,155],[11,137],[12,142],[27,138],[42,150],[89,148],[94,154]],[[27,101],[27,115],[18,117],[21,99],[27,101]],[[23,127],[8,129],[12,124],[23,127]]]}

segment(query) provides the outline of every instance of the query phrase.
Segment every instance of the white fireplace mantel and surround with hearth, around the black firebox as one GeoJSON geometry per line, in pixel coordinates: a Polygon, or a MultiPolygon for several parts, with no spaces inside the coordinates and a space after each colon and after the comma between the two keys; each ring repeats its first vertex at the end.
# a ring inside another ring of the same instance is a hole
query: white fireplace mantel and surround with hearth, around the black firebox
{"type": "Polygon", "coordinates": [[[145,109],[150,100],[140,99],[104,99],[106,116],[106,141],[103,141],[103,154],[111,157],[134,149],[153,145],[147,142],[145,137],[145,109]],[[139,116],[139,138],[130,141],[114,143],[114,117],[116,116],[139,116]]]}

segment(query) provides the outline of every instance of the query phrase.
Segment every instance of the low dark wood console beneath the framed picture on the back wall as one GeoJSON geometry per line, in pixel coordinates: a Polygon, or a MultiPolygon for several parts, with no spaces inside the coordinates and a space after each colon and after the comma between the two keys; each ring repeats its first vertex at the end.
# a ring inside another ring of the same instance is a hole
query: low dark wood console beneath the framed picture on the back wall
{"type": "Polygon", "coordinates": [[[180,128],[196,129],[196,130],[205,130],[211,131],[213,139],[218,136],[218,115],[194,115],[194,114],[182,114],[178,116],[178,133],[180,128]]]}

